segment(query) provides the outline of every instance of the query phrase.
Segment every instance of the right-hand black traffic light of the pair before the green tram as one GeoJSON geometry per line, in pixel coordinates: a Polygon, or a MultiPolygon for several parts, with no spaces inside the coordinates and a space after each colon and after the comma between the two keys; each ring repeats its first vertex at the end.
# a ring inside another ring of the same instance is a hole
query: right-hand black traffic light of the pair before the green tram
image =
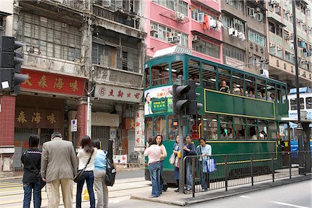
{"type": "Polygon", "coordinates": [[[195,80],[187,80],[187,85],[191,87],[187,93],[187,99],[189,100],[189,109],[187,114],[197,115],[198,110],[202,107],[202,103],[197,103],[196,101],[196,98],[200,96],[200,94],[196,92],[196,87],[199,87],[199,84],[196,83],[195,80]]]}

